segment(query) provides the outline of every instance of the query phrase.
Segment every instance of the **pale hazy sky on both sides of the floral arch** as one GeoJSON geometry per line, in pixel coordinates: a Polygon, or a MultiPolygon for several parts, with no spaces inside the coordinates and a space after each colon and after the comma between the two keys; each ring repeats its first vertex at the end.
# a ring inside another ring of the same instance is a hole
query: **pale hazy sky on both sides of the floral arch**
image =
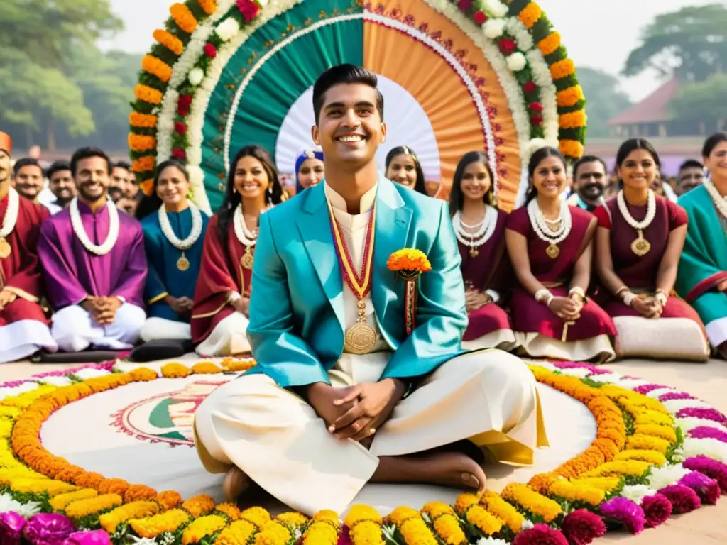
{"type": "MultiPolygon", "coordinates": [[[[718,0],[539,0],[555,28],[563,36],[576,65],[590,66],[618,75],[631,49],[640,41],[643,27],[655,15],[686,6],[712,4],[718,0]]],[[[166,20],[174,0],[111,0],[124,19],[126,31],[112,46],[144,52],[152,43],[151,33],[166,20]]],[[[622,79],[623,89],[638,100],[658,87],[654,74],[622,79]]]]}

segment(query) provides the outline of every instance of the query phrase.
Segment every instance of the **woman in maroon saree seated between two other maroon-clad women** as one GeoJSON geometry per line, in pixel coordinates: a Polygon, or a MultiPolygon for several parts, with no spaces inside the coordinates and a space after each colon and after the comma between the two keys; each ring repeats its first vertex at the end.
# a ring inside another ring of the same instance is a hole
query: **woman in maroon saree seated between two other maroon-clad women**
{"type": "Polygon", "coordinates": [[[585,297],[596,220],[561,199],[566,163],[558,150],[537,150],[528,172],[526,206],[510,214],[505,230],[507,253],[520,281],[510,304],[515,339],[532,357],[609,360],[616,328],[585,297]]]}

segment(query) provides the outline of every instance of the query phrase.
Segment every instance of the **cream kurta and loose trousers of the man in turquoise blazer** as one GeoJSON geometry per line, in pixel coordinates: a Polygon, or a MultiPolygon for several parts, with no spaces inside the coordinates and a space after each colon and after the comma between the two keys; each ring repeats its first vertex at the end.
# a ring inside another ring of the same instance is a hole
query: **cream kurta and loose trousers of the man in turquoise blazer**
{"type": "MultiPolygon", "coordinates": [[[[361,199],[358,216],[326,186],[354,264],[361,266],[376,188],[361,199]]],[[[359,268],[360,270],[360,268],[359,268]]],[[[358,317],[357,299],[344,289],[345,323],[358,317]]],[[[329,371],[334,387],[377,382],[390,358],[371,298],[366,316],[381,352],[343,354],[329,371]]],[[[370,450],[337,440],[305,400],[265,375],[242,376],[212,392],[195,413],[195,443],[210,472],[232,465],[293,509],[342,512],[374,474],[379,456],[403,456],[470,439],[498,459],[531,464],[547,445],[534,376],[519,358],[489,350],[444,363],[401,400],[376,433],[370,450]]]]}

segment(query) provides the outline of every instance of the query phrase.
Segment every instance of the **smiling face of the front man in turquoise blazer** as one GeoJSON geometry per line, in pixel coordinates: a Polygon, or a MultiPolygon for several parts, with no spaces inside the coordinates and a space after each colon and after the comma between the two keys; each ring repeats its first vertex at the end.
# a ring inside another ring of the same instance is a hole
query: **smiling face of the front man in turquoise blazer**
{"type": "Polygon", "coordinates": [[[338,84],[326,91],[318,125],[311,130],[326,163],[356,170],[375,161],[386,137],[376,103],[376,89],[366,84],[338,84]]]}

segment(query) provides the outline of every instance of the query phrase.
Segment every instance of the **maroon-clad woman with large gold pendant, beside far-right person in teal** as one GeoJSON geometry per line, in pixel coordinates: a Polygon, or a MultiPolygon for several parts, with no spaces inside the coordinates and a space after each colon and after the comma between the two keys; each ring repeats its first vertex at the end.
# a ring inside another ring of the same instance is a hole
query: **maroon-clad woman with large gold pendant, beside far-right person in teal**
{"type": "Polygon", "coordinates": [[[619,357],[706,361],[709,344],[699,315],[672,296],[687,215],[650,189],[661,163],[642,138],[616,154],[622,189],[595,210],[598,300],[614,319],[619,357]]]}

